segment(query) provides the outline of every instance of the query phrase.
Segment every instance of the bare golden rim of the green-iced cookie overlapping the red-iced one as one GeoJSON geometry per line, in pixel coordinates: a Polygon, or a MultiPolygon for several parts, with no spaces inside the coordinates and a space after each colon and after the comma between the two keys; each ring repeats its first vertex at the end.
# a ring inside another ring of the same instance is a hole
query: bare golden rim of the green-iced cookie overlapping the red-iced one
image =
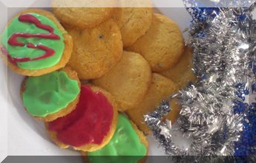
{"type": "MultiPolygon", "coordinates": [[[[75,71],[70,69],[70,67],[68,67],[68,66],[63,68],[63,69],[59,69],[59,71],[65,71],[65,73],[68,75],[68,77],[70,79],[77,81],[78,86],[80,88],[81,83],[80,83],[79,78],[78,78],[75,71]]],[[[23,92],[26,89],[26,86],[25,86],[26,81],[27,81],[27,77],[24,78],[24,80],[22,82],[21,89],[20,89],[20,94],[21,94],[22,99],[23,99],[23,92]]],[[[45,121],[45,122],[50,122],[50,121],[53,121],[54,119],[57,119],[59,117],[64,117],[65,115],[70,114],[70,112],[73,111],[76,108],[76,104],[78,102],[79,102],[79,95],[76,97],[75,100],[73,100],[71,103],[69,103],[67,107],[62,108],[60,111],[58,111],[54,114],[48,114],[46,117],[35,117],[35,118],[39,119],[39,120],[42,120],[42,121],[45,121]]],[[[31,102],[31,103],[35,103],[35,102],[31,102]]]]}

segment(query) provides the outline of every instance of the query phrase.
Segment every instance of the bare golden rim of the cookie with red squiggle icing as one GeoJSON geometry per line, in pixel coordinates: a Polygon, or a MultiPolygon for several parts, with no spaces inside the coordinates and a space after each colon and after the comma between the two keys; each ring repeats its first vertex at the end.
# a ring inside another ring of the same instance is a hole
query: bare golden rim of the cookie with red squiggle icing
{"type": "MultiPolygon", "coordinates": [[[[73,49],[73,41],[71,36],[68,34],[68,32],[66,32],[66,30],[62,27],[61,24],[59,24],[59,21],[54,17],[54,15],[48,11],[45,10],[38,10],[38,9],[28,9],[28,10],[24,10],[21,13],[18,13],[16,16],[14,16],[13,18],[16,18],[19,15],[22,15],[24,13],[37,13],[39,15],[43,15],[47,18],[49,18],[51,21],[53,21],[54,24],[56,24],[56,26],[58,27],[58,29],[63,33],[63,37],[64,37],[64,43],[65,43],[65,49],[62,53],[62,58],[59,60],[59,63],[56,63],[54,66],[50,66],[48,68],[45,69],[21,69],[19,66],[13,64],[10,60],[7,59],[6,55],[0,50],[0,57],[4,60],[4,63],[7,64],[7,66],[12,69],[14,72],[17,72],[19,74],[23,74],[26,76],[40,76],[42,74],[47,74],[50,72],[54,72],[57,69],[61,69],[62,67],[64,67],[66,65],[66,63],[68,63],[68,60],[70,59],[70,55],[73,49]]],[[[9,26],[12,23],[13,19],[11,19],[7,26],[9,26]]],[[[0,47],[2,47],[3,45],[1,44],[0,41],[0,47]]]]}

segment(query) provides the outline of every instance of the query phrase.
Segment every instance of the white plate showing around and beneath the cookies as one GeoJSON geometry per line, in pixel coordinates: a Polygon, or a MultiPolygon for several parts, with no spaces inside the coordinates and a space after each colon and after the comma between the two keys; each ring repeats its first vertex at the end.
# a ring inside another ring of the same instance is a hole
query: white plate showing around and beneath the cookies
{"type": "MultiPolygon", "coordinates": [[[[30,1],[29,4],[30,7],[40,7],[48,5],[49,0],[37,1],[36,3],[30,1]]],[[[6,11],[4,5],[0,4],[0,10],[6,11]]],[[[9,9],[8,15],[7,13],[1,14],[0,30],[4,29],[7,18],[12,18],[21,10],[24,10],[24,8],[16,7],[9,9]]],[[[158,8],[158,10],[176,21],[181,30],[188,27],[191,18],[185,8],[158,8]]],[[[42,122],[33,119],[24,111],[19,96],[19,87],[23,76],[7,70],[2,61],[0,61],[0,72],[2,79],[0,83],[1,106],[6,108],[6,110],[1,109],[0,115],[1,124],[4,124],[1,131],[6,131],[3,132],[4,134],[1,133],[0,153],[8,156],[79,156],[79,152],[62,150],[54,145],[47,136],[42,122]]],[[[149,155],[164,155],[163,150],[158,148],[158,143],[151,136],[148,136],[148,142],[149,155]]],[[[62,162],[65,162],[65,160],[62,160],[62,162]]],[[[77,162],[81,162],[81,160],[77,160],[77,162]]],[[[151,159],[151,162],[154,162],[154,160],[151,159]]]]}

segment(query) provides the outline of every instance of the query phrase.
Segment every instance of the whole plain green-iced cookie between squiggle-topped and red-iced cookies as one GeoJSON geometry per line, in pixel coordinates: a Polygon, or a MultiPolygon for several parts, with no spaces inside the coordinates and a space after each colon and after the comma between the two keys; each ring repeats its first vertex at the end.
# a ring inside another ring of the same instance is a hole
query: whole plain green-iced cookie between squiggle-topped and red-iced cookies
{"type": "Polygon", "coordinates": [[[46,122],[73,111],[79,94],[79,78],[69,67],[39,77],[25,77],[21,86],[22,102],[27,113],[46,122]]]}

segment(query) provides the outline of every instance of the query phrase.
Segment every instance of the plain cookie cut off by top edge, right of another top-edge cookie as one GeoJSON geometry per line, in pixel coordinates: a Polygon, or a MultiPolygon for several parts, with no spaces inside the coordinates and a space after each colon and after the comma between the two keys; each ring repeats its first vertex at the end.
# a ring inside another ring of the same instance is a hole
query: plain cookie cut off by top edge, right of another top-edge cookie
{"type": "Polygon", "coordinates": [[[119,7],[112,16],[122,33],[124,47],[133,45],[138,38],[145,35],[153,17],[150,7],[119,7]]]}

